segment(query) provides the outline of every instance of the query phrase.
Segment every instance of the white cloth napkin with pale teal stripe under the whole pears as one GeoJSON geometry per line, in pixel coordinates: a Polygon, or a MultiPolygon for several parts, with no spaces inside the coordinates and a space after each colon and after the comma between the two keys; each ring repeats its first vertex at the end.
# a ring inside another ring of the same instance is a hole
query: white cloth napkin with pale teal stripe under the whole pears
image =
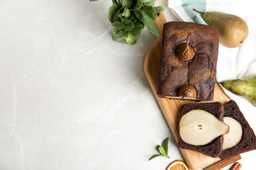
{"type": "MultiPolygon", "coordinates": [[[[234,14],[244,19],[249,27],[249,35],[245,42],[236,48],[227,48],[219,44],[217,61],[217,81],[234,80],[256,75],[256,1],[230,1],[230,0],[169,0],[169,9],[177,18],[184,22],[206,24],[202,14],[194,12],[224,12],[234,14]]],[[[224,92],[238,103],[242,112],[256,114],[256,107],[247,100],[224,89],[224,92]]]]}

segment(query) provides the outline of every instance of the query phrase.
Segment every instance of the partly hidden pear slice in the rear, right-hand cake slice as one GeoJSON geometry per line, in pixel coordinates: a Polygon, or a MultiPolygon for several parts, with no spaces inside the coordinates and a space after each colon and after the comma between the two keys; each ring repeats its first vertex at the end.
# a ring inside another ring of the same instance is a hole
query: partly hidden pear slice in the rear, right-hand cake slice
{"type": "Polygon", "coordinates": [[[230,129],[226,135],[223,135],[223,150],[236,146],[242,139],[243,127],[234,118],[224,117],[223,122],[227,124],[230,129]]]}

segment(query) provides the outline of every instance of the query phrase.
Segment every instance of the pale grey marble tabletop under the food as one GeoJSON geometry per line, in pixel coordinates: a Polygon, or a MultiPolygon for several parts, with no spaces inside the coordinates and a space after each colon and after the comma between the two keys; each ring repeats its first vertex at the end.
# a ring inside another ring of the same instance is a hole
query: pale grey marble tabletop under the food
{"type": "MultiPolygon", "coordinates": [[[[0,169],[166,169],[183,159],[143,71],[156,37],[144,29],[135,46],[112,41],[111,5],[0,2],[0,169]],[[171,158],[148,161],[166,137],[171,158]]],[[[177,20],[167,1],[156,5],[177,20]]],[[[244,169],[255,156],[242,154],[244,169]]]]}

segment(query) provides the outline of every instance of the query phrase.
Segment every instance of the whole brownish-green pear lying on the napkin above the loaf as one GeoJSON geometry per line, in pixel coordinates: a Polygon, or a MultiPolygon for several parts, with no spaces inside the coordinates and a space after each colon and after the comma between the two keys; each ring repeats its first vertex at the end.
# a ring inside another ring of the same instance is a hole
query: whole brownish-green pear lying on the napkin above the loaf
{"type": "MultiPolygon", "coordinates": [[[[195,10],[196,12],[199,12],[195,10]]],[[[208,25],[219,30],[219,41],[228,48],[240,46],[247,39],[249,29],[239,16],[223,12],[200,12],[208,25]]]]}

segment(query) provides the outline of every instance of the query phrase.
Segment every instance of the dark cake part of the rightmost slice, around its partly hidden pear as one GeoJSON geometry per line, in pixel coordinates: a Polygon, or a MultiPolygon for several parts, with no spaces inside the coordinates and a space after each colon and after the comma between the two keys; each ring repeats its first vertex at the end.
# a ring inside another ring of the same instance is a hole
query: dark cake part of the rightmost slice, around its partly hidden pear
{"type": "Polygon", "coordinates": [[[240,111],[238,105],[235,101],[228,101],[224,105],[224,116],[228,116],[231,118],[234,118],[238,122],[240,122],[242,128],[243,128],[243,135],[242,139],[240,140],[240,143],[238,143],[236,146],[223,150],[219,158],[221,160],[224,160],[226,158],[229,158],[230,156],[235,156],[238,154],[242,154],[244,152],[249,152],[251,150],[256,149],[256,136],[251,128],[249,126],[248,122],[244,118],[244,114],[240,111]]]}

